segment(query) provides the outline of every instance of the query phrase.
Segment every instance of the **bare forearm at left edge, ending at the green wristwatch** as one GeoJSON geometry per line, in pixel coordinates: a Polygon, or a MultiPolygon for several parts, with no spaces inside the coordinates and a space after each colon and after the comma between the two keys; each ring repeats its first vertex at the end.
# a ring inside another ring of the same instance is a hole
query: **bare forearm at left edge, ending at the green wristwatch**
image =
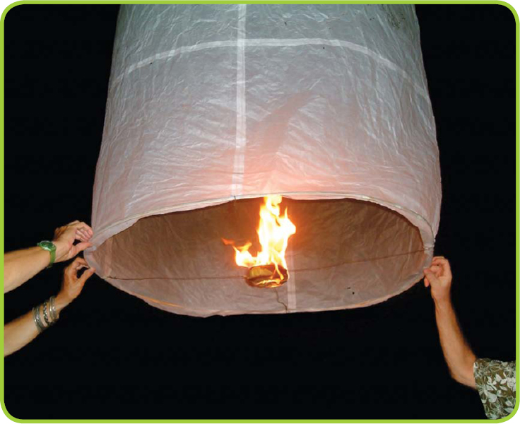
{"type": "Polygon", "coordinates": [[[50,253],[40,247],[4,254],[4,293],[17,288],[42,271],[50,262],[50,253]]]}

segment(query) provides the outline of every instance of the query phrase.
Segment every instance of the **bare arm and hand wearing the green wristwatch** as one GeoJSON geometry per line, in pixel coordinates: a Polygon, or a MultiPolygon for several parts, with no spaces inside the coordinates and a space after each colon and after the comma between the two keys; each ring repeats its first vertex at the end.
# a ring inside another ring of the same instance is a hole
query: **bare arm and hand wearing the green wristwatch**
{"type": "MultiPolygon", "coordinates": [[[[88,240],[92,235],[92,228],[79,221],[57,228],[53,240],[56,245],[56,262],[71,259],[90,247],[88,240]],[[80,242],[74,245],[75,240],[80,242]]],[[[48,266],[49,262],[50,252],[40,247],[30,247],[4,254],[4,293],[28,281],[48,266]]]]}

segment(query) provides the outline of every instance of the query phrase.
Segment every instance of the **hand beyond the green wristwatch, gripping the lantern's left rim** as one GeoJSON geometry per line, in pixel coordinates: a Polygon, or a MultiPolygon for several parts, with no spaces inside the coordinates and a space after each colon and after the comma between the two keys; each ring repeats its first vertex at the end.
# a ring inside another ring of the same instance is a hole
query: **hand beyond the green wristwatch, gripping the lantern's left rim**
{"type": "Polygon", "coordinates": [[[92,228],[78,220],[57,228],[54,231],[53,240],[56,246],[56,260],[54,262],[67,261],[87,247],[92,246],[89,243],[92,236],[92,228]],[[79,240],[79,243],[74,245],[76,240],[79,240]]]}

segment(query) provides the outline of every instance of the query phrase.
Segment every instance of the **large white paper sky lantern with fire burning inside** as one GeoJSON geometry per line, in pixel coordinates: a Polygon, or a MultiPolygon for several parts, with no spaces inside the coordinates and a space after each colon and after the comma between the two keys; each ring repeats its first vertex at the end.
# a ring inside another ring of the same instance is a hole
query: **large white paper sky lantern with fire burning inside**
{"type": "Polygon", "coordinates": [[[418,282],[441,180],[411,5],[123,5],[88,262],[162,310],[340,310],[418,282]]]}

